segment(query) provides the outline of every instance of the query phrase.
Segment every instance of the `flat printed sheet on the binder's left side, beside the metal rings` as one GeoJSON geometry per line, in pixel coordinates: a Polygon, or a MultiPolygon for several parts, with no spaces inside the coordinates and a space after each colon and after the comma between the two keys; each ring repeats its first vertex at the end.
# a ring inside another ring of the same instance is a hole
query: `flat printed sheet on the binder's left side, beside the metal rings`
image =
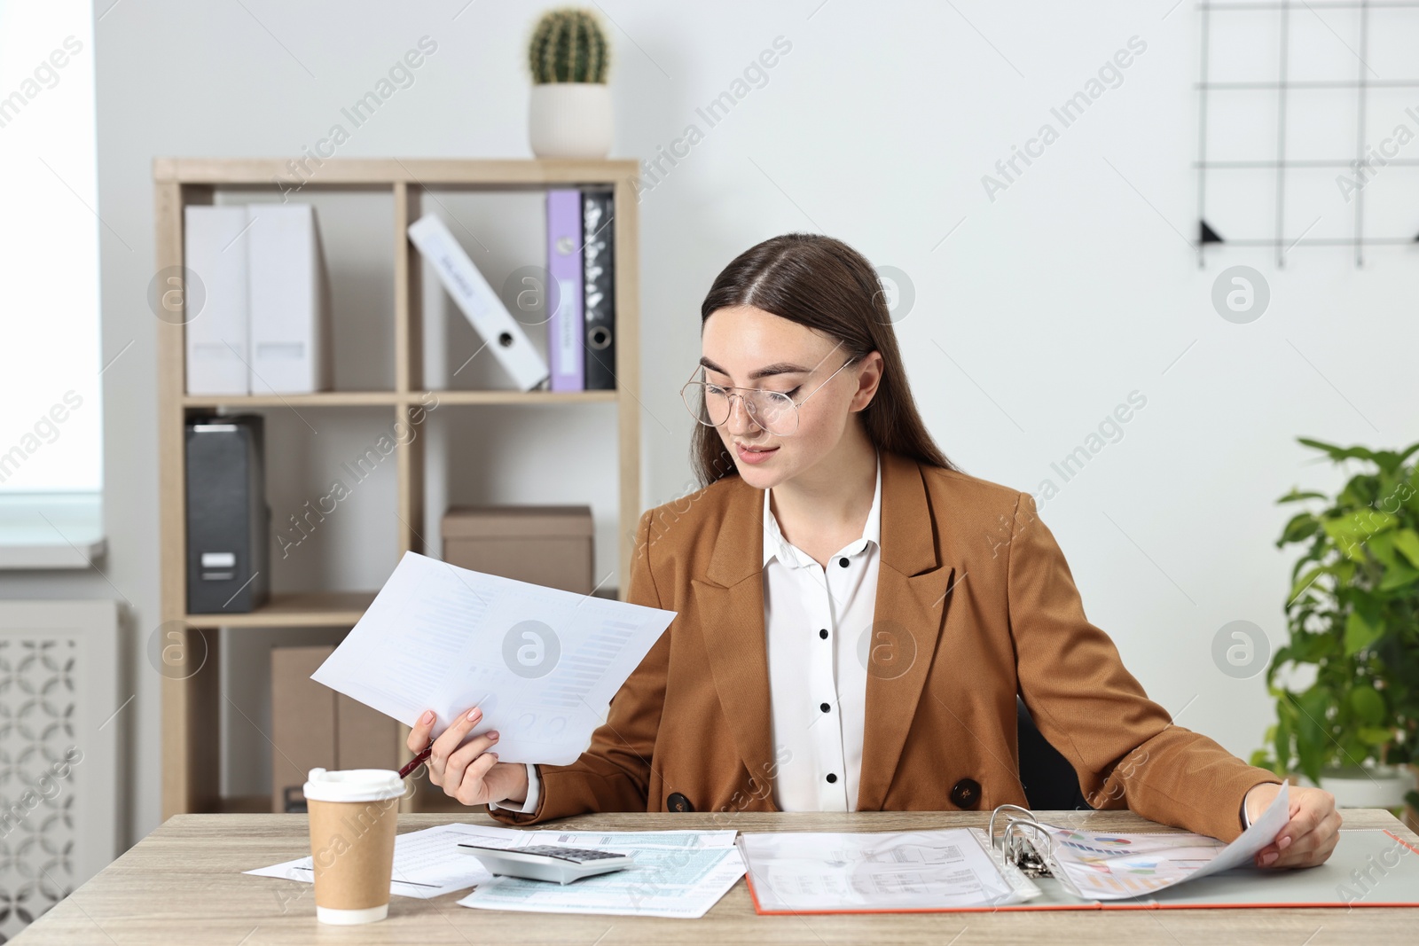
{"type": "Polygon", "coordinates": [[[1017,903],[1040,895],[979,828],[745,834],[759,913],[858,913],[1017,903]]]}

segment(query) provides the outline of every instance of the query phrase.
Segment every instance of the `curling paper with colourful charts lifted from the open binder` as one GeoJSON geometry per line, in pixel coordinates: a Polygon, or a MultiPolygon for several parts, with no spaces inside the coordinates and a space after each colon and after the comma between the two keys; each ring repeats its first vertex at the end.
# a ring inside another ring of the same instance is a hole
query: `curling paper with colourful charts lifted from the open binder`
{"type": "Polygon", "coordinates": [[[1101,833],[1046,825],[1060,881],[1076,896],[1118,901],[1156,894],[1199,877],[1250,864],[1291,817],[1288,781],[1232,844],[1205,834],[1101,833]]]}

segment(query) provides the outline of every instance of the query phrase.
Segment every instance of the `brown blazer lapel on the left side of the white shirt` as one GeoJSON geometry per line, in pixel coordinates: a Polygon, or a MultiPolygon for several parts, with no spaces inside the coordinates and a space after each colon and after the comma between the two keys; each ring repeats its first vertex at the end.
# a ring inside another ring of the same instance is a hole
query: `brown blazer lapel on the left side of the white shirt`
{"type": "Polygon", "coordinates": [[[769,655],[763,627],[763,492],[732,477],[705,580],[690,579],[715,691],[735,747],[772,810],[769,655]]]}

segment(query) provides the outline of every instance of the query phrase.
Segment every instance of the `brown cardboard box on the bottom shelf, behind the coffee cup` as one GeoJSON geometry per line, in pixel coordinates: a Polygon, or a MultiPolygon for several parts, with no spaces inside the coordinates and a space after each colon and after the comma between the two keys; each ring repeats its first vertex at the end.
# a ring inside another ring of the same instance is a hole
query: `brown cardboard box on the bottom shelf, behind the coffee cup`
{"type": "Polygon", "coordinates": [[[399,769],[399,720],[311,679],[333,647],[271,648],[271,810],[304,811],[311,769],[399,769]]]}

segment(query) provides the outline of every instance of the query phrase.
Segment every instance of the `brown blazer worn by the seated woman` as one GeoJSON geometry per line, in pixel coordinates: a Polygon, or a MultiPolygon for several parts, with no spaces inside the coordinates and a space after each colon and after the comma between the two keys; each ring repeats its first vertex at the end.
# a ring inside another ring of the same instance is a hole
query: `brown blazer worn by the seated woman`
{"type": "MultiPolygon", "coordinates": [[[[1279,779],[1148,699],[1084,617],[1033,496],[887,451],[881,489],[858,811],[1026,804],[1019,692],[1093,807],[1242,833],[1247,789],[1279,779]]],[[[538,766],[538,810],[492,817],[775,810],[762,519],[763,492],[738,475],[641,516],[627,599],[677,616],[582,757],[538,766]]]]}

